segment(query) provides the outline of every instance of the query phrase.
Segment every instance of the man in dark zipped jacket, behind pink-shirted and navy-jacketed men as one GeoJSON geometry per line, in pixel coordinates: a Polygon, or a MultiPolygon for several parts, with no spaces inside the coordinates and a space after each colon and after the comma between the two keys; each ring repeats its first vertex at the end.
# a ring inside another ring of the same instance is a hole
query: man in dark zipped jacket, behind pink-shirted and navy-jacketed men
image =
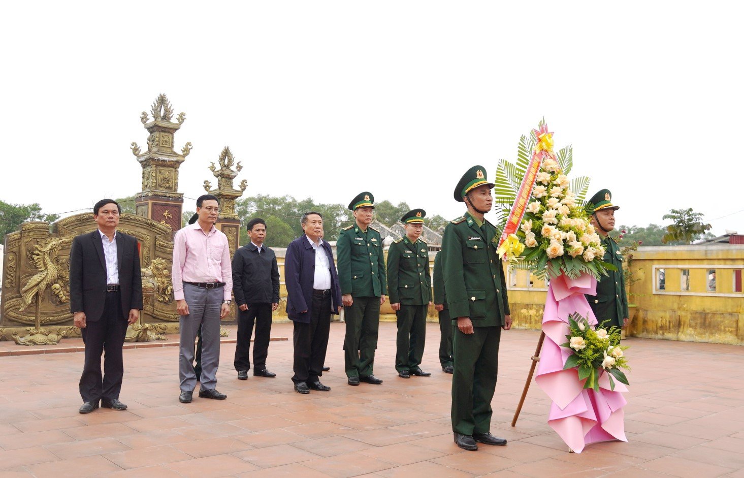
{"type": "Polygon", "coordinates": [[[251,241],[237,249],[233,256],[233,294],[240,310],[237,322],[237,344],[234,366],[240,380],[248,379],[251,360],[253,323],[256,339],[253,345],[253,375],[276,377],[266,370],[269,354],[269,335],[272,332],[272,312],[279,307],[279,267],[277,256],[263,244],[266,239],[266,221],[255,217],[248,221],[251,241]]]}

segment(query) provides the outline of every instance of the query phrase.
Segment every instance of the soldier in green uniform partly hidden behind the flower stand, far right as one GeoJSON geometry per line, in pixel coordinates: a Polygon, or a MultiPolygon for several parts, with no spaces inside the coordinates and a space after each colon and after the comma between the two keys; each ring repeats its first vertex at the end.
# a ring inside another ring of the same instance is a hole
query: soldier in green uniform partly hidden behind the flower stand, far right
{"type": "Polygon", "coordinates": [[[600,324],[607,321],[610,327],[625,327],[628,325],[628,296],[625,293],[625,279],[623,278],[623,255],[615,239],[609,237],[609,232],[615,229],[615,211],[620,206],[612,205],[612,193],[603,189],[591,197],[591,225],[602,238],[605,255],[602,259],[609,262],[618,270],[608,270],[609,277],[602,276],[597,281],[597,295],[586,295],[591,310],[600,324]]]}

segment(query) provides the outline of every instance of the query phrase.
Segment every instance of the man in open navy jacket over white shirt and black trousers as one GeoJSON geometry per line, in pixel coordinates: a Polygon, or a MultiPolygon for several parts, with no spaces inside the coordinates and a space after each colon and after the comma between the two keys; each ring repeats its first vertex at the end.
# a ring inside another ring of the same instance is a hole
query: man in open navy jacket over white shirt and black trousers
{"type": "Polygon", "coordinates": [[[294,322],[295,375],[299,393],[310,389],[327,392],[323,375],[330,332],[330,315],[341,312],[341,288],[333,252],[323,240],[323,217],[318,212],[302,214],[304,235],[292,240],[284,258],[286,313],[294,322]]]}

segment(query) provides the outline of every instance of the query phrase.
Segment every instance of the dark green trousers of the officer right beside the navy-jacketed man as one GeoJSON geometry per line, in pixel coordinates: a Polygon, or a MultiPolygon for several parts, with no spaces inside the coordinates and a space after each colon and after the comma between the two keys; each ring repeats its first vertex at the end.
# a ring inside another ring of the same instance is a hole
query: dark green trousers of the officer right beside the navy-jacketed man
{"type": "Polygon", "coordinates": [[[351,307],[344,307],[346,337],[344,365],[347,377],[372,375],[374,351],[379,331],[379,297],[353,296],[351,307]]]}

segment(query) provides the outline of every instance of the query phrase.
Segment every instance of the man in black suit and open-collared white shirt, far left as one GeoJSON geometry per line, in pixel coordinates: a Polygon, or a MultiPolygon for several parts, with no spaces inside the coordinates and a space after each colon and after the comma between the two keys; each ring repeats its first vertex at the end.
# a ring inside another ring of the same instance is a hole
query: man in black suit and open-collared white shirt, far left
{"type": "Polygon", "coordinates": [[[93,208],[98,229],[79,235],[70,252],[70,311],[86,345],[80,377],[80,413],[101,407],[126,410],[119,401],[124,378],[122,348],[126,326],[142,310],[142,279],[137,240],[118,232],[121,207],[100,200],[93,208]],[[100,356],[106,351],[103,375],[100,356]]]}

